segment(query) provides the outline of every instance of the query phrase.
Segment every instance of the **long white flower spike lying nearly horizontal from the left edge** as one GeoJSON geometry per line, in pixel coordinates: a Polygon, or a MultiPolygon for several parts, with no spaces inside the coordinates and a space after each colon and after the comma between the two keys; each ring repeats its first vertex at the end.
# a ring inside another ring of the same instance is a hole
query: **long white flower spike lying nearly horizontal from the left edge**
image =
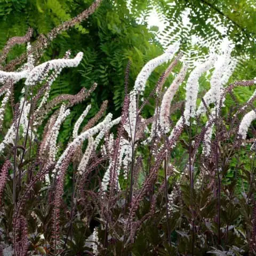
{"type": "Polygon", "coordinates": [[[82,58],[83,53],[79,52],[74,59],[56,59],[46,61],[32,70],[22,70],[20,72],[6,72],[0,70],[0,83],[3,83],[6,79],[12,79],[15,83],[22,78],[26,78],[25,85],[34,85],[38,81],[38,78],[42,76],[45,69],[47,70],[46,73],[48,73],[52,69],[77,67],[82,58]]]}

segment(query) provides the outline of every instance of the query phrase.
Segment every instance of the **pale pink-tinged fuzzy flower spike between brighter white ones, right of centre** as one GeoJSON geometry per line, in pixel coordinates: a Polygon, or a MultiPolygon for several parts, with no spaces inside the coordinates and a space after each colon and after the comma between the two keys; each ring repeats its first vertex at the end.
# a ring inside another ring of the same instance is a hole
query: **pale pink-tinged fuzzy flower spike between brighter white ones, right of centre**
{"type": "Polygon", "coordinates": [[[187,69],[184,67],[181,69],[180,73],[178,74],[177,77],[174,78],[172,84],[170,87],[166,90],[163,100],[162,100],[162,105],[161,105],[161,110],[160,110],[160,115],[159,115],[159,123],[162,128],[162,130],[167,133],[170,130],[170,106],[172,99],[174,97],[174,94],[178,90],[180,84],[184,81],[185,75],[186,75],[187,69]]]}

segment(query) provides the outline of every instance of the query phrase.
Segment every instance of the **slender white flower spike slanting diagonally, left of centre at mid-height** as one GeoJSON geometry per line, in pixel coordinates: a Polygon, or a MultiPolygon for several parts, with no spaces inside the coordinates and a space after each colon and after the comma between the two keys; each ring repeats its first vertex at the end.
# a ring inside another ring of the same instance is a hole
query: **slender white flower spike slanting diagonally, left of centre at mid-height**
{"type": "Polygon", "coordinates": [[[94,127],[92,127],[91,129],[89,129],[89,130],[87,130],[87,131],[85,131],[85,132],[82,132],[82,133],[79,134],[71,143],[69,143],[69,145],[67,146],[67,148],[65,149],[65,151],[64,151],[64,152],[62,153],[62,155],[60,156],[60,158],[59,158],[57,164],[55,165],[55,168],[54,168],[54,170],[53,170],[53,173],[55,173],[55,172],[58,173],[59,168],[60,168],[60,166],[61,166],[61,163],[62,163],[62,161],[68,156],[68,152],[69,152],[69,149],[70,149],[71,147],[74,147],[74,150],[75,150],[78,146],[80,146],[80,145],[83,143],[83,141],[84,141],[85,139],[87,139],[87,138],[89,138],[89,137],[95,135],[95,134],[98,133],[100,130],[104,129],[104,127],[105,127],[108,123],[111,122],[112,116],[113,116],[113,115],[109,113],[101,123],[95,125],[94,127]]]}

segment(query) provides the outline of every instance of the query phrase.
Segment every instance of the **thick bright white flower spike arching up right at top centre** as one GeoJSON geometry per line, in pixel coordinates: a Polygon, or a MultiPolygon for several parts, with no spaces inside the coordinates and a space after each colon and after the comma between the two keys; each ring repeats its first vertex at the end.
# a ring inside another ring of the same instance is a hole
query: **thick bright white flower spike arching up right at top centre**
{"type": "Polygon", "coordinates": [[[140,92],[141,94],[145,90],[147,79],[155,68],[162,65],[164,62],[171,60],[174,54],[179,50],[180,43],[175,43],[170,45],[167,50],[160,56],[150,60],[140,71],[140,74],[137,76],[134,85],[134,92],[140,92]]]}

